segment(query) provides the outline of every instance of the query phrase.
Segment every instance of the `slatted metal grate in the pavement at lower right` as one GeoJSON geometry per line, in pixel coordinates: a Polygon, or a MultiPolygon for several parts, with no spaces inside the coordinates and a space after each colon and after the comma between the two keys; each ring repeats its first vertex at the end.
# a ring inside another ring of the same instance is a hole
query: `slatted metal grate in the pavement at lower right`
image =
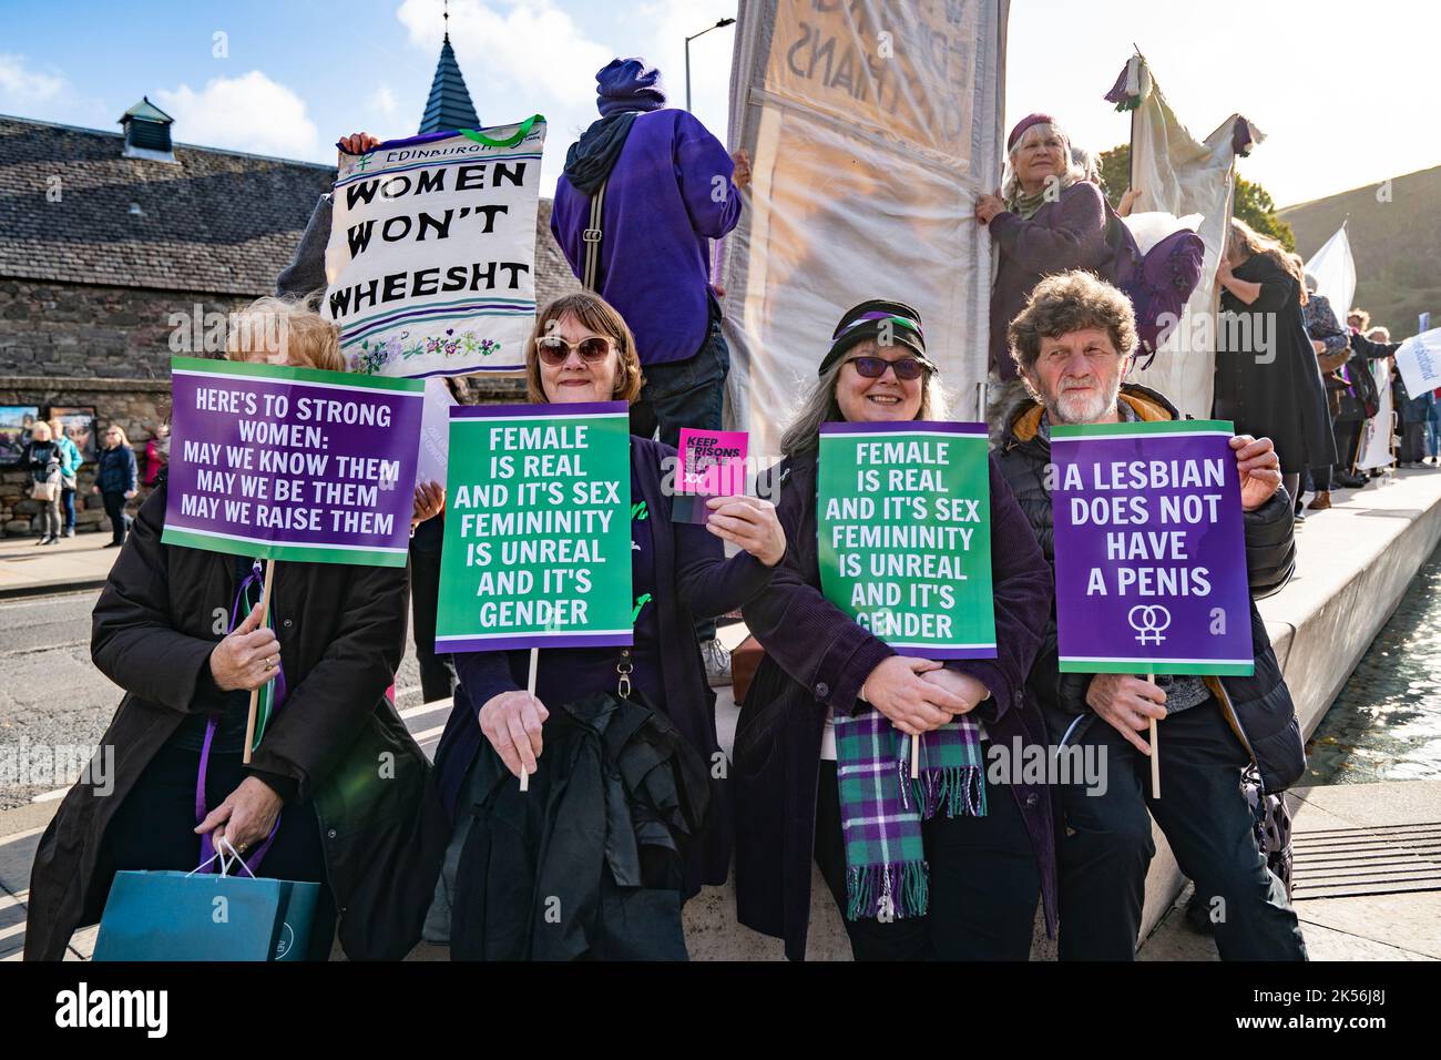
{"type": "Polygon", "coordinates": [[[1295,901],[1441,891],[1441,821],[1298,832],[1291,841],[1295,901]]]}

